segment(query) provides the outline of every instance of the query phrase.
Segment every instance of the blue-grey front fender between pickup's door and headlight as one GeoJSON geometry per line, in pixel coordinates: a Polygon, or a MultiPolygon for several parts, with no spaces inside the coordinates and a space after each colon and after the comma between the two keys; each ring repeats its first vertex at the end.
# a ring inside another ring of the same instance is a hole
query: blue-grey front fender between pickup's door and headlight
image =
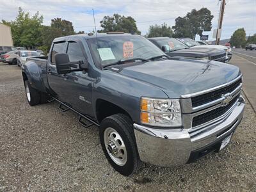
{"type": "MultiPolygon", "coordinates": [[[[168,98],[168,96],[156,86],[122,76],[115,72],[102,71],[93,86],[93,107],[97,99],[106,100],[124,109],[134,122],[140,122],[141,97],[168,98]]],[[[108,110],[108,109],[106,109],[108,110]]],[[[94,113],[96,111],[94,108],[94,113]]]]}

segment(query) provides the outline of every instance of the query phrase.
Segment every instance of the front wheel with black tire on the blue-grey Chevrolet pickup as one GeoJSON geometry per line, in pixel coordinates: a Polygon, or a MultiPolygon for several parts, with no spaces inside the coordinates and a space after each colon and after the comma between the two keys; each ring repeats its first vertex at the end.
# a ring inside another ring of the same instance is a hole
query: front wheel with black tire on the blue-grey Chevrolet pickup
{"type": "Polygon", "coordinates": [[[109,163],[122,175],[137,172],[142,162],[136,147],[132,120],[124,114],[111,115],[100,124],[100,143],[109,163]]]}

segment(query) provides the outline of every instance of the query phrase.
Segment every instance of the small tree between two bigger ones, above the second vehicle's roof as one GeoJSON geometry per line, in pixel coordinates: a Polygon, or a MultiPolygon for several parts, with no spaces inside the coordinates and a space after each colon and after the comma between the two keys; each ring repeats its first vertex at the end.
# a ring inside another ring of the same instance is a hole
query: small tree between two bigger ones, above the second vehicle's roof
{"type": "Polygon", "coordinates": [[[172,28],[167,26],[166,23],[154,26],[149,26],[147,37],[156,37],[156,36],[169,36],[172,37],[172,28]]]}

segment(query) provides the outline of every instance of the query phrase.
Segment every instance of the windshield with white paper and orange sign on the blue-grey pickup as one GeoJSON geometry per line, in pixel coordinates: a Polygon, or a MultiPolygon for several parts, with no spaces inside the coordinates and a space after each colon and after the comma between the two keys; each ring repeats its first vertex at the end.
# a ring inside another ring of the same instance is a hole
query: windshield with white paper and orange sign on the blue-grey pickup
{"type": "Polygon", "coordinates": [[[88,39],[93,60],[104,67],[120,60],[132,61],[132,58],[148,60],[163,56],[163,52],[143,36],[115,35],[88,39]]]}

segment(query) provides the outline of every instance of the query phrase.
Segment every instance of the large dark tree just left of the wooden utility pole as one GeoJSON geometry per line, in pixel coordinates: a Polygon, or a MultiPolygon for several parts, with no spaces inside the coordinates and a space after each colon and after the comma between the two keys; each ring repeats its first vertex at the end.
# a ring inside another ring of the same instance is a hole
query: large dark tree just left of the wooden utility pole
{"type": "Polygon", "coordinates": [[[207,8],[201,8],[198,11],[193,9],[185,17],[175,19],[175,26],[172,27],[173,36],[193,39],[196,34],[202,36],[204,31],[211,31],[213,17],[207,8]]]}

